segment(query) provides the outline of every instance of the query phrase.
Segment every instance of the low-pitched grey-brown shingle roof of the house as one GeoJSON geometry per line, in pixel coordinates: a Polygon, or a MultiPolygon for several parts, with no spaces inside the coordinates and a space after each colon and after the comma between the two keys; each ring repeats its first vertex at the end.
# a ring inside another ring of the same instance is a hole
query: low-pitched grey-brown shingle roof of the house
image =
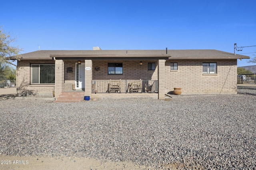
{"type": "Polygon", "coordinates": [[[21,55],[21,60],[51,60],[56,58],[164,58],[164,59],[250,59],[218,50],[40,50],[21,55]]]}

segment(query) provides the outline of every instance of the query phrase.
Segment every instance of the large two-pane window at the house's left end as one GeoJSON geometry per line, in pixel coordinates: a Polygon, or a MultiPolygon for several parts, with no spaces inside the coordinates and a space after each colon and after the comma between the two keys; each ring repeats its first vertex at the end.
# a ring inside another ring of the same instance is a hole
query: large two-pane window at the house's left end
{"type": "Polygon", "coordinates": [[[31,84],[54,84],[55,64],[31,64],[31,84]]]}

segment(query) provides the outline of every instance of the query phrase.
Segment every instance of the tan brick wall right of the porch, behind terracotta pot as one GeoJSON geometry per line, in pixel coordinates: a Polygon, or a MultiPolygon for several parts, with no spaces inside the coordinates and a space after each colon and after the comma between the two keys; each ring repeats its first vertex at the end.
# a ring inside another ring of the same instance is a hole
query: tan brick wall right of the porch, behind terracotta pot
{"type": "Polygon", "coordinates": [[[166,93],[180,87],[183,94],[236,94],[236,59],[172,60],[165,66],[166,93]],[[217,63],[217,74],[203,74],[203,62],[217,63]],[[178,63],[178,71],[170,71],[170,63],[178,63]]]}

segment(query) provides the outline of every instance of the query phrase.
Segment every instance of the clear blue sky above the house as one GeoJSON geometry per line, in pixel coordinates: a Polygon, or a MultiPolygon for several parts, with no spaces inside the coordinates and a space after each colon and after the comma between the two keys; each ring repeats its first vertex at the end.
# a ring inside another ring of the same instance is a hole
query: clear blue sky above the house
{"type": "MultiPolygon", "coordinates": [[[[254,0],[4,0],[0,25],[22,53],[256,45],[254,0]]],[[[237,54],[256,57],[256,47],[237,54]],[[246,53],[246,54],[245,54],[246,53]]],[[[256,65],[238,61],[238,66],[256,65]]]]}

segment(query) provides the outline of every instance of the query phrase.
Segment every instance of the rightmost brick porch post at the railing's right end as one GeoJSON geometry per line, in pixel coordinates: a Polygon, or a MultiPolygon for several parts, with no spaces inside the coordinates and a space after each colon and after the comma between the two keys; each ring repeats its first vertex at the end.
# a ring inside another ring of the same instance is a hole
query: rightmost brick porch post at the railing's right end
{"type": "Polygon", "coordinates": [[[165,60],[158,60],[158,99],[165,98],[165,60]]]}

